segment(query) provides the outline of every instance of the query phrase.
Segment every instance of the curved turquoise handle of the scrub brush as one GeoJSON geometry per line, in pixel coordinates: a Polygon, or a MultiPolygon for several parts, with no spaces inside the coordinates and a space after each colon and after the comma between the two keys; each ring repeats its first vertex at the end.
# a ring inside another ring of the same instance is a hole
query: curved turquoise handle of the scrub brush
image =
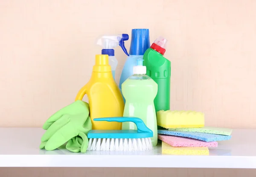
{"type": "Polygon", "coordinates": [[[94,118],[93,121],[108,121],[108,122],[133,122],[137,126],[137,132],[152,132],[140,118],[134,117],[110,117],[110,118],[94,118]]]}

